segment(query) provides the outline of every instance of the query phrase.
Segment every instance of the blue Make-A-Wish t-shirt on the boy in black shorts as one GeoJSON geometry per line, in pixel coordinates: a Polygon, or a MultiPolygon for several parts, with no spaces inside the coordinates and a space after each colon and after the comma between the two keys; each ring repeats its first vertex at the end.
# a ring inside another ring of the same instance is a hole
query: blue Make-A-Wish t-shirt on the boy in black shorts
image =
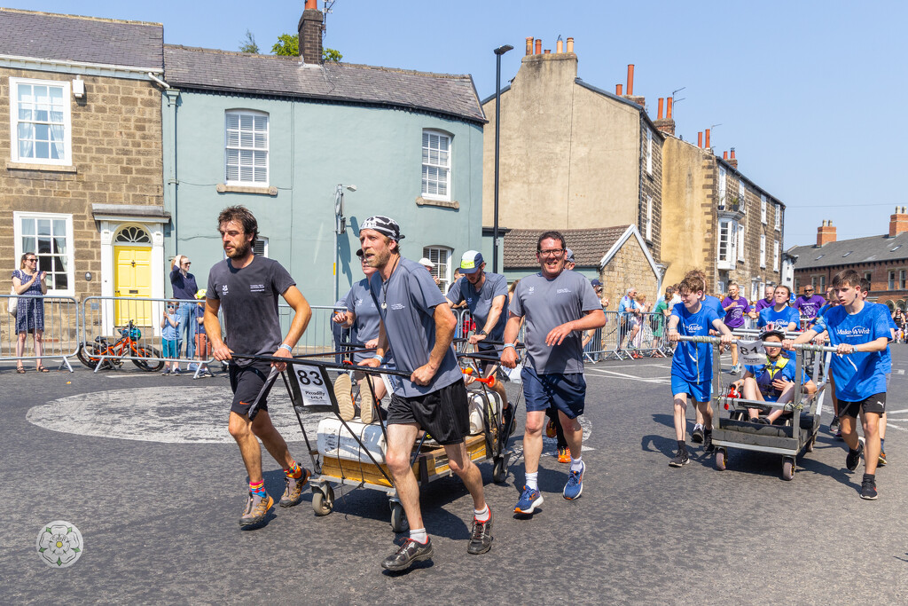
{"type": "MultiPolygon", "coordinates": [[[[814,330],[829,334],[829,343],[857,345],[892,335],[882,305],[864,303],[858,313],[847,313],[844,306],[833,307],[816,319],[814,330]]],[[[832,373],[835,395],[845,402],[859,402],[875,393],[886,391],[886,373],[882,352],[855,352],[833,355],[832,373]]]]}

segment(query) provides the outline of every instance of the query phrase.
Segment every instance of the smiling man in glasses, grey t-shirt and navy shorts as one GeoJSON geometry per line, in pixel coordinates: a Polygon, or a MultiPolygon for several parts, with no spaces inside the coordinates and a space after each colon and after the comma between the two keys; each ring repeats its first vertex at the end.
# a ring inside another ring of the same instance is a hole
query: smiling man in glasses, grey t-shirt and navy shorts
{"type": "Polygon", "coordinates": [[[577,499],[583,492],[585,464],[581,460],[583,430],[577,417],[583,414],[587,382],[583,378],[583,331],[605,326],[602,303],[587,278],[565,269],[564,236],[546,232],[539,236],[536,257],[541,271],[523,278],[511,300],[510,318],[505,328],[505,349],[501,363],[517,365],[514,343],[520,320],[527,323],[528,363],[520,378],[527,400],[527,429],[523,456],[527,482],[516,513],[529,514],[542,504],[538,488],[539,455],[542,453],[542,428],[546,409],[558,408],[558,419],[571,452],[565,499],[577,499]]]}

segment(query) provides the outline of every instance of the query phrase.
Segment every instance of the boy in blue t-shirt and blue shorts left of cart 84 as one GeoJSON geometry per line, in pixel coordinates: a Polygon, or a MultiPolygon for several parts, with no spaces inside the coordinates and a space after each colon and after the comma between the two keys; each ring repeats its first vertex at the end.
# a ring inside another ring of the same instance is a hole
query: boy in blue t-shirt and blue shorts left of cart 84
{"type": "Polygon", "coordinates": [[[709,336],[713,330],[722,333],[722,343],[732,342],[732,332],[719,319],[716,307],[701,303],[706,283],[699,275],[688,274],[678,288],[681,304],[675,305],[668,320],[668,339],[677,342],[672,357],[672,396],[675,402],[675,437],[678,452],[668,464],[682,467],[690,462],[687,456],[685,431],[687,426],[687,396],[704,419],[704,451],[713,451],[713,413],[709,398],[713,379],[713,346],[710,343],[678,341],[679,336],[709,336]]]}

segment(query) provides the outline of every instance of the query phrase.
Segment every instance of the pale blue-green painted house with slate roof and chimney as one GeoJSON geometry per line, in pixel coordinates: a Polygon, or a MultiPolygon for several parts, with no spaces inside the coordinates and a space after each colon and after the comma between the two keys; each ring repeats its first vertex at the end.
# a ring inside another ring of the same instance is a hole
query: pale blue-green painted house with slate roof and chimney
{"type": "Polygon", "coordinates": [[[164,46],[168,255],[190,255],[201,284],[223,258],[217,214],[244,204],[258,253],[331,305],[362,278],[360,223],[386,214],[403,254],[429,257],[447,289],[460,255],[482,245],[486,119],[472,78],[322,63],[315,4],[299,23],[302,56],[164,46]]]}

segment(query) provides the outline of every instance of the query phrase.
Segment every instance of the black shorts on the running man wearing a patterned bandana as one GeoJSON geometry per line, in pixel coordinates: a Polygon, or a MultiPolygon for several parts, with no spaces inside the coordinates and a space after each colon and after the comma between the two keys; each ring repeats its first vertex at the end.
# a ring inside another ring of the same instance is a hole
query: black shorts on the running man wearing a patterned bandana
{"type": "Polygon", "coordinates": [[[439,444],[457,444],[469,435],[467,387],[460,379],[415,398],[391,394],[388,423],[416,423],[439,444]]]}

